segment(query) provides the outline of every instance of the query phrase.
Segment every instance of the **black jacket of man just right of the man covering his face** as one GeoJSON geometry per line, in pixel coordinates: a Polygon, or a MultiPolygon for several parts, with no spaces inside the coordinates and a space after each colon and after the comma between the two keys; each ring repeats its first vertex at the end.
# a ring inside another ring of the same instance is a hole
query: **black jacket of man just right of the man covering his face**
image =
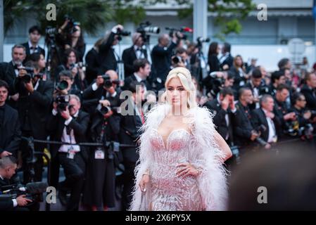
{"type": "Polygon", "coordinates": [[[251,116],[249,108],[244,108],[240,102],[236,104],[236,115],[234,117],[234,138],[239,146],[244,146],[251,141],[251,131],[253,126],[251,124],[251,116]],[[246,112],[247,110],[247,112],[246,112]]]}

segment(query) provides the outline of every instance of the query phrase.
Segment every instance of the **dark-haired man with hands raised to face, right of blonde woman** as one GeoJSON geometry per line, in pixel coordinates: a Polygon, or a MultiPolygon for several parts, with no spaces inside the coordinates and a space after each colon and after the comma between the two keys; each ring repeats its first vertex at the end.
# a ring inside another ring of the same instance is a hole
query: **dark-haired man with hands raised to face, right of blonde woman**
{"type": "Polygon", "coordinates": [[[213,121],[218,133],[230,145],[234,146],[233,125],[236,115],[234,104],[234,92],[230,88],[224,88],[216,99],[208,101],[205,106],[213,113],[213,121]]]}

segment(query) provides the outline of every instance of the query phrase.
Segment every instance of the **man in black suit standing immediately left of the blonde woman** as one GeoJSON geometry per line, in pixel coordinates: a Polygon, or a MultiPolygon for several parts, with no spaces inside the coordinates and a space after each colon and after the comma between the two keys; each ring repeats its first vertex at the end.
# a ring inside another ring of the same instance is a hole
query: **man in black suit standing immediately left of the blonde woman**
{"type": "Polygon", "coordinates": [[[139,128],[144,124],[144,113],[141,108],[142,87],[139,82],[129,84],[129,95],[122,105],[120,120],[120,143],[132,145],[132,148],[122,148],[125,173],[123,175],[122,206],[124,210],[129,208],[132,201],[132,189],[134,187],[134,169],[139,154],[137,153],[137,139],[139,138],[139,128]]]}

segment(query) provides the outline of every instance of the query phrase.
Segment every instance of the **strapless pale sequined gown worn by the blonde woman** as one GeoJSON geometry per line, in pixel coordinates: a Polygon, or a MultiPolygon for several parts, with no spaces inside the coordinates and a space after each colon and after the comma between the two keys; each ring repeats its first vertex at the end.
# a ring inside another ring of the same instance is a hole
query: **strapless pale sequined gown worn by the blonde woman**
{"type": "Polygon", "coordinates": [[[151,169],[151,194],[148,199],[151,210],[202,210],[201,195],[196,177],[177,177],[177,165],[189,162],[191,134],[185,129],[176,129],[163,140],[157,129],[149,137],[153,150],[151,169]]]}

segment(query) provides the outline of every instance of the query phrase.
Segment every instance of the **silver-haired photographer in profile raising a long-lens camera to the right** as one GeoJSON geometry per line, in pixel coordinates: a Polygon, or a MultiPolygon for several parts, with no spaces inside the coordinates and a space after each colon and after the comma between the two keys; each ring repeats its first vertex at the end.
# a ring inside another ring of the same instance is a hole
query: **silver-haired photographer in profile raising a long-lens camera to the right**
{"type": "Polygon", "coordinates": [[[103,41],[99,48],[101,74],[108,70],[118,70],[118,54],[115,53],[113,46],[118,44],[122,36],[128,35],[128,32],[123,30],[124,27],[122,25],[116,25],[109,34],[106,34],[105,41],[103,41]]]}

